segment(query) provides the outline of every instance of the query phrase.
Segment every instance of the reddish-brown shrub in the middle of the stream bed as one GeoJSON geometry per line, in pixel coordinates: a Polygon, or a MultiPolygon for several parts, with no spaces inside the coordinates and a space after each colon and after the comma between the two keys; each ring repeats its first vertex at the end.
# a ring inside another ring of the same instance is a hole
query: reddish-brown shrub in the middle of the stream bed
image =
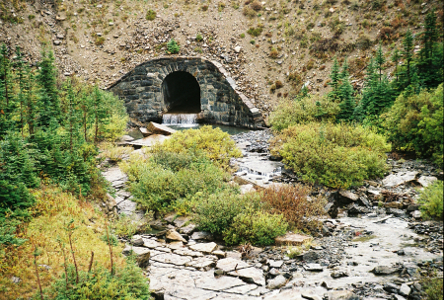
{"type": "Polygon", "coordinates": [[[319,227],[317,216],[324,214],[325,199],[310,196],[311,188],[304,185],[272,186],[261,192],[262,201],[272,213],[282,214],[291,228],[310,231],[319,227]]]}

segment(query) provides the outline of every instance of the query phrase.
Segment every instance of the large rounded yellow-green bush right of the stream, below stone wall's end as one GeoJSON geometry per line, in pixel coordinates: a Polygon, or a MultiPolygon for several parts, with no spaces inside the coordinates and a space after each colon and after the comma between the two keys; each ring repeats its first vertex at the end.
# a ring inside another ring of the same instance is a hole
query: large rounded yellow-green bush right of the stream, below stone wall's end
{"type": "Polygon", "coordinates": [[[390,145],[370,128],[310,123],[289,127],[271,144],[300,179],[333,188],[349,188],[386,171],[390,145]]]}

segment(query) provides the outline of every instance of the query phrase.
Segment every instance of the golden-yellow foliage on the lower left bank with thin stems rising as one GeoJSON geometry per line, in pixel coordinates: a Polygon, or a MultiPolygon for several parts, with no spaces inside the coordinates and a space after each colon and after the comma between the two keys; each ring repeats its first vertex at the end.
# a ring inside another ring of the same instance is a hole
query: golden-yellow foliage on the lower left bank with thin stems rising
{"type": "MultiPolygon", "coordinates": [[[[67,243],[64,228],[72,219],[78,227],[73,236],[73,246],[79,270],[88,269],[91,251],[94,251],[94,263],[97,263],[94,268],[103,266],[109,269],[109,248],[106,242],[100,239],[107,220],[92,203],[79,201],[72,194],[54,187],[42,186],[33,191],[33,195],[36,203],[28,209],[33,218],[29,219],[29,223],[19,225],[14,233],[18,239],[26,239],[27,242],[20,247],[8,245],[4,252],[0,251],[0,286],[5,288],[2,290],[2,296],[6,299],[28,299],[35,292],[35,268],[33,261],[27,259],[34,251],[33,245],[42,250],[39,263],[49,266],[48,271],[40,273],[42,287],[50,287],[54,276],[61,277],[64,273],[64,258],[57,238],[62,244],[67,243]],[[13,283],[10,280],[12,276],[19,277],[20,284],[13,283]]],[[[3,222],[0,221],[0,224],[3,222]]],[[[122,251],[122,248],[119,245],[114,250],[117,253],[122,251]]],[[[68,251],[65,249],[67,263],[71,264],[73,261],[68,251]]],[[[125,260],[120,255],[115,255],[113,260],[119,273],[125,266],[125,260]]]]}

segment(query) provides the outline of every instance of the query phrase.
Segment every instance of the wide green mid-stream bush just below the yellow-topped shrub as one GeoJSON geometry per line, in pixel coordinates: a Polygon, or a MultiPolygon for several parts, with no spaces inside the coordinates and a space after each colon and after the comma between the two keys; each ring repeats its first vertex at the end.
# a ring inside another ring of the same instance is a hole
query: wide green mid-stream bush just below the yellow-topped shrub
{"type": "Polygon", "coordinates": [[[129,175],[130,191],[135,201],[146,209],[166,212],[180,202],[186,201],[185,206],[192,205],[216,191],[228,188],[225,183],[228,174],[213,165],[202,153],[174,153],[160,149],[155,149],[145,161],[133,155],[122,164],[129,175]]]}

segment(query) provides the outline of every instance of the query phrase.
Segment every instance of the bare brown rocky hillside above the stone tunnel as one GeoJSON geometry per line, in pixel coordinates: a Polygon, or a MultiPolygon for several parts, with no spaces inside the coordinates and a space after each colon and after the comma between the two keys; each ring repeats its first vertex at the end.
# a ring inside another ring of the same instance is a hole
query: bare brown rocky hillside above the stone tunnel
{"type": "Polygon", "coordinates": [[[50,46],[60,76],[107,87],[137,64],[170,55],[174,38],[180,55],[223,63],[267,116],[305,83],[325,91],[335,55],[348,57],[359,88],[379,42],[389,57],[407,29],[423,31],[435,8],[442,22],[436,0],[3,0],[0,43],[20,46],[32,62],[50,46]]]}

